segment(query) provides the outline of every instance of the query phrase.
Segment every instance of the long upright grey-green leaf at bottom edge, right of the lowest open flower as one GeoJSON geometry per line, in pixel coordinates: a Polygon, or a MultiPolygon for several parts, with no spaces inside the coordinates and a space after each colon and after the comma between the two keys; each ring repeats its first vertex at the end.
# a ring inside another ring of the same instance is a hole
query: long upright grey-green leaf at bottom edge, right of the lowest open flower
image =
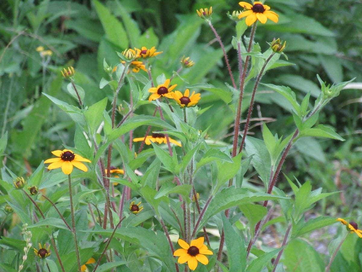
{"type": "Polygon", "coordinates": [[[230,272],[245,271],[247,252],[245,250],[244,240],[236,233],[224,214],[222,214],[221,218],[223,221],[230,272]]]}

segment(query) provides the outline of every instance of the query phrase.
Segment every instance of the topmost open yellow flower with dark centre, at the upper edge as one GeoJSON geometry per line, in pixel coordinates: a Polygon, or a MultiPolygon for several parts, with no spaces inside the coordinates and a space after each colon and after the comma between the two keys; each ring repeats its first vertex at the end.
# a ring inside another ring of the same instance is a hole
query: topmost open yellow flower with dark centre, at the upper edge
{"type": "Polygon", "coordinates": [[[265,24],[268,19],[273,22],[278,22],[279,15],[274,11],[270,11],[270,7],[268,5],[263,5],[263,3],[256,1],[254,4],[249,4],[247,2],[239,2],[239,5],[244,9],[248,9],[248,11],[244,11],[239,15],[239,19],[243,17],[247,17],[245,22],[248,26],[251,26],[259,20],[262,24],[265,24]]]}

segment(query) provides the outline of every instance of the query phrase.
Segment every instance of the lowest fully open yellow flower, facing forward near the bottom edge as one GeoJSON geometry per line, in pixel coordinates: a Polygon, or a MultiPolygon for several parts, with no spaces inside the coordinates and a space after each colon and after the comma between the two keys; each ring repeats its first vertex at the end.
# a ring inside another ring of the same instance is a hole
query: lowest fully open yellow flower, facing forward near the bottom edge
{"type": "Polygon", "coordinates": [[[207,265],[209,263],[209,259],[207,259],[205,255],[212,255],[213,253],[206,245],[203,244],[203,241],[204,238],[200,237],[196,240],[192,240],[189,245],[184,240],[178,239],[178,244],[182,248],[173,252],[173,256],[179,256],[177,260],[179,264],[186,263],[187,261],[191,270],[195,270],[197,268],[198,261],[207,265]]]}

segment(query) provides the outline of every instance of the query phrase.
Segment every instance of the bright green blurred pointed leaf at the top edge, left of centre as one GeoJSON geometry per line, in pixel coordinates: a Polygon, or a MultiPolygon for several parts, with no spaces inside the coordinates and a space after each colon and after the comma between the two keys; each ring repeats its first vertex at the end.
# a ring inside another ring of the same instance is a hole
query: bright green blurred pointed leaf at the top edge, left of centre
{"type": "Polygon", "coordinates": [[[122,23],[119,22],[117,18],[109,12],[109,9],[104,7],[99,1],[93,0],[93,3],[108,40],[122,49],[128,48],[129,42],[122,23]]]}

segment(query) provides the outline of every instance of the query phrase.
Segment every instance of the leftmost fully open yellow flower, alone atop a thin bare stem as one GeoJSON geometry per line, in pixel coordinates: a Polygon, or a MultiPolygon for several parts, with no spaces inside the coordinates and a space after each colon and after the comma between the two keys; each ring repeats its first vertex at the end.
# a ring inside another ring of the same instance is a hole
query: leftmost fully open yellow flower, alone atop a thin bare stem
{"type": "Polygon", "coordinates": [[[59,158],[50,158],[44,162],[45,164],[50,163],[50,165],[48,166],[49,170],[61,167],[63,173],[68,175],[68,174],[72,173],[73,166],[75,166],[76,168],[78,168],[84,172],[88,171],[87,166],[85,166],[83,163],[81,163],[81,161],[84,161],[84,162],[91,162],[91,161],[86,158],[83,158],[82,156],[80,156],[78,154],[73,153],[72,151],[70,151],[68,149],[63,149],[63,151],[55,150],[55,151],[52,151],[51,153],[53,153],[55,156],[57,156],[59,158]]]}

